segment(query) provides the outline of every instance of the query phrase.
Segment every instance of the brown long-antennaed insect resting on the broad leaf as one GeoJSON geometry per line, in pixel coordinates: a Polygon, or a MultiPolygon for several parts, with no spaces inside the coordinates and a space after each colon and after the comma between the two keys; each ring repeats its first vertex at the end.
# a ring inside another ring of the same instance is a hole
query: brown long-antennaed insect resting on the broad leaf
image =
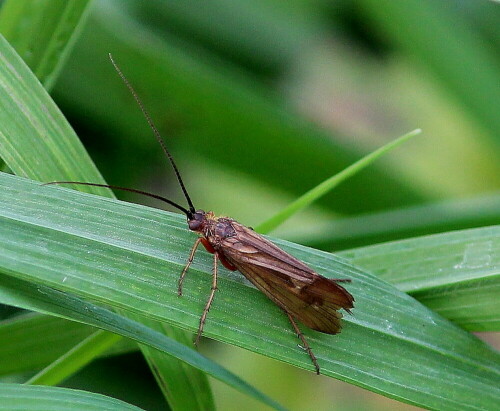
{"type": "Polygon", "coordinates": [[[211,211],[196,210],[184,186],[179,170],[167,150],[158,129],[125,75],[114,62],[112,56],[109,55],[109,57],[119,76],[135,98],[156,139],[160,143],[163,152],[169,159],[187,200],[188,208],[156,194],[131,188],[75,181],[56,181],[48,184],[72,183],[130,191],[156,198],[181,210],[186,214],[189,229],[197,233],[200,237],[195,241],[187,264],[179,278],[179,296],[182,295],[184,278],[189,266],[193,262],[194,254],[200,243],[203,244],[209,253],[214,255],[212,288],[200,318],[195,344],[198,343],[203,333],[208,311],[217,291],[217,266],[220,262],[229,270],[238,270],[241,272],[255,287],[285,312],[297,336],[300,338],[303,348],[307,351],[309,357],[311,357],[316,373],[319,374],[320,367],[316,357],[295,320],[299,320],[313,330],[326,334],[339,333],[341,330],[340,319],[342,318],[339,310],[343,308],[350,313],[350,309],[353,308],[354,298],[338,283],[350,282],[351,280],[322,277],[303,262],[283,251],[251,228],[228,217],[216,217],[211,211]]]}

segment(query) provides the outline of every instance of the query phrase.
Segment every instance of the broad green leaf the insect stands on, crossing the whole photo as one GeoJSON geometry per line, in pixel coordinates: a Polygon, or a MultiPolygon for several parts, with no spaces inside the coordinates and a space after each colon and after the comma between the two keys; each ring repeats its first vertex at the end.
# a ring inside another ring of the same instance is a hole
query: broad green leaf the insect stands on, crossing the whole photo
{"type": "MultiPolygon", "coordinates": [[[[0,175],[0,188],[0,271],[197,329],[212,258],[197,254],[179,298],[176,283],[195,238],[184,217],[9,175],[0,175]]],[[[343,259],[276,243],[321,274],[352,279],[356,307],[342,333],[303,329],[324,375],[426,408],[498,402],[499,356],[486,344],[343,259]]],[[[219,290],[208,337],[312,369],[283,313],[238,273],[221,270],[219,290]]]]}

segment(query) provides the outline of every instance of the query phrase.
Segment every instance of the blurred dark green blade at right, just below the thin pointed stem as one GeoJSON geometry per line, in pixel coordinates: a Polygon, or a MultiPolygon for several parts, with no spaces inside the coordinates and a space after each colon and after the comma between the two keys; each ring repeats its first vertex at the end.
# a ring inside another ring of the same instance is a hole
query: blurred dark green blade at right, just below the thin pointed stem
{"type": "Polygon", "coordinates": [[[500,224],[500,193],[445,200],[334,221],[280,228],[280,237],[322,250],[346,250],[386,241],[500,224]]]}

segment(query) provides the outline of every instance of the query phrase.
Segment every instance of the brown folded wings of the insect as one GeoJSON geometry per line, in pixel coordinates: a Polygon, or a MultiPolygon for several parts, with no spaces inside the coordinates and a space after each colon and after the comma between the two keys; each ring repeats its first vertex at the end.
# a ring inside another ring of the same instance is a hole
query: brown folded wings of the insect
{"type": "Polygon", "coordinates": [[[259,290],[304,325],[327,334],[340,331],[342,314],[354,298],[249,228],[233,222],[236,235],[219,250],[259,290]]]}

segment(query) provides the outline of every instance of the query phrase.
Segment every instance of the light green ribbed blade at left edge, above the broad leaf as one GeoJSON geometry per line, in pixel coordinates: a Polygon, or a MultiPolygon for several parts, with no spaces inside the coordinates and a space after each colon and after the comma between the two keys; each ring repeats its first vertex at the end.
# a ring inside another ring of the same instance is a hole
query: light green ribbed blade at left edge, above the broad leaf
{"type": "MultiPolygon", "coordinates": [[[[0,124],[0,156],[15,174],[104,182],[60,110],[1,36],[0,124]]],[[[97,187],[89,192],[110,195],[97,187]]]]}

